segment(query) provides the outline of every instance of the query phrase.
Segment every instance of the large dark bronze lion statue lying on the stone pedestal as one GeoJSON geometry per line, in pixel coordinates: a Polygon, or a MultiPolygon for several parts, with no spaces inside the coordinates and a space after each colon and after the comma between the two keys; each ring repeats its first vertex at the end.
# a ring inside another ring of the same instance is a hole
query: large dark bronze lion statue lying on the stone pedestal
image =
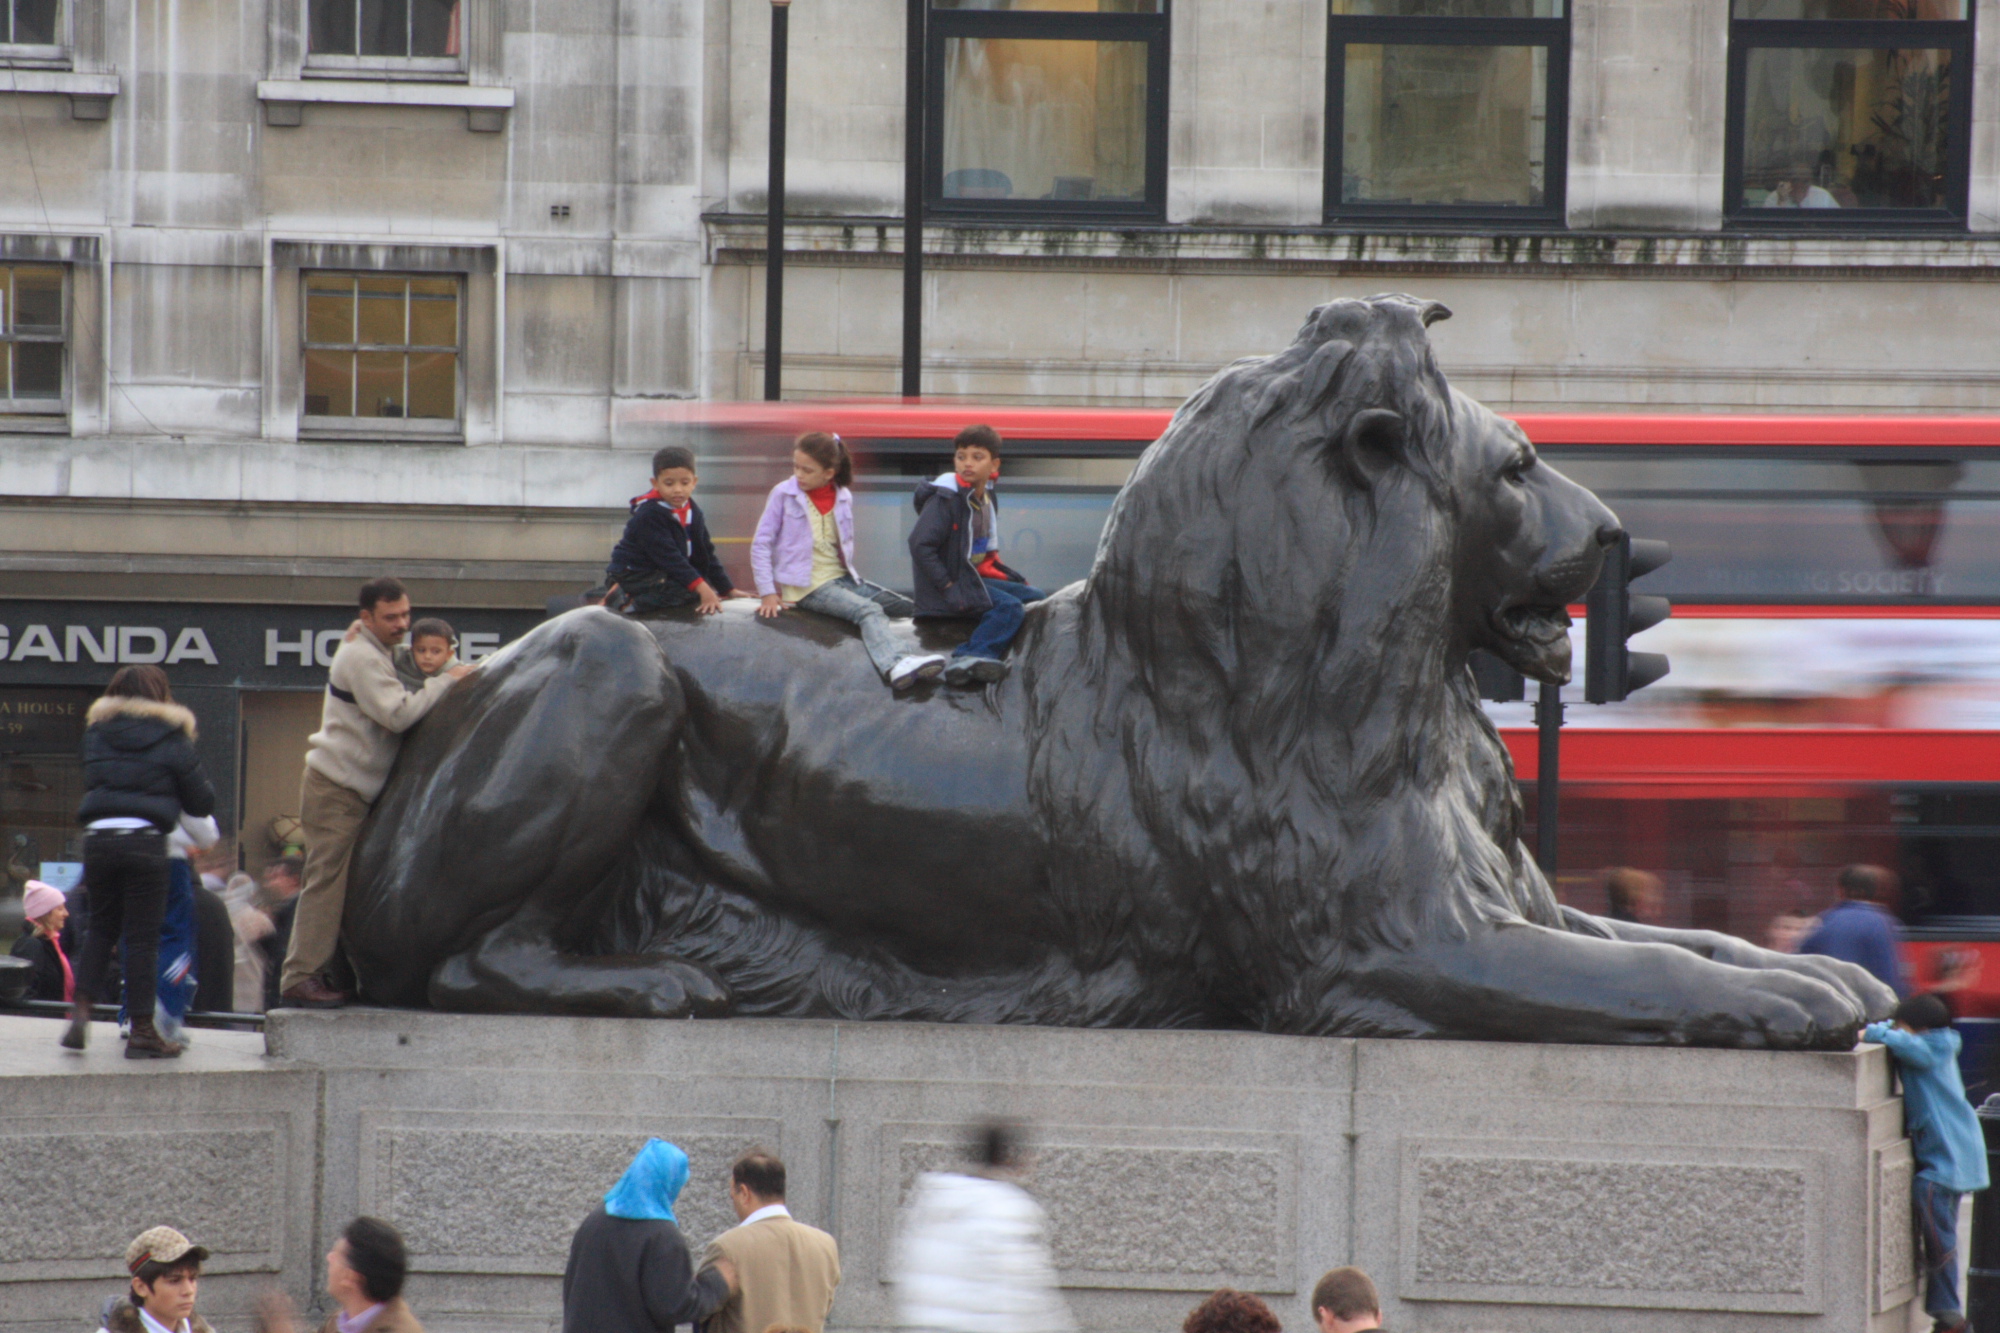
{"type": "Polygon", "coordinates": [[[1000,685],[898,699],[740,608],[510,644],[356,847],[362,997],[1852,1045],[1894,1005],[1858,967],[1568,911],[1526,855],[1466,658],[1566,681],[1618,518],[1446,384],[1444,314],[1338,300],[1222,370],[1000,685]]]}

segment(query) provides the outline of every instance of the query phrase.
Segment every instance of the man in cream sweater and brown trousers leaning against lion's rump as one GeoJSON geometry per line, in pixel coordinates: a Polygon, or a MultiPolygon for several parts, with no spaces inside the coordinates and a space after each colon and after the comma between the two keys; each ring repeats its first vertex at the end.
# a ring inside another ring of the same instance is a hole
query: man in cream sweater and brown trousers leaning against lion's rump
{"type": "Polygon", "coordinates": [[[394,578],[372,578],[362,584],[360,608],[360,632],[340,644],[326,673],[320,729],[308,741],[306,781],[298,791],[306,877],[278,981],[278,1003],[296,1009],[348,1003],[346,991],[326,979],[326,967],[340,943],[354,837],[382,795],[402,733],[472,673],[472,666],[452,666],[420,691],[404,689],[392,654],[410,630],[410,594],[394,578]]]}

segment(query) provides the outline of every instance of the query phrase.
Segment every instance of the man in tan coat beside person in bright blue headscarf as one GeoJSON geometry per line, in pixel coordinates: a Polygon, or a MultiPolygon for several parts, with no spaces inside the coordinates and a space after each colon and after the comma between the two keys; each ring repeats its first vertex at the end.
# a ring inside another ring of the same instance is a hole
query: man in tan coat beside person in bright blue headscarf
{"type": "Polygon", "coordinates": [[[702,1255],[736,1265],[736,1293],[708,1317],[706,1333],[764,1333],[772,1325],[822,1333],[840,1287],[840,1247],[784,1207],[784,1163],[752,1149],[730,1167],[740,1219],[702,1255]]]}

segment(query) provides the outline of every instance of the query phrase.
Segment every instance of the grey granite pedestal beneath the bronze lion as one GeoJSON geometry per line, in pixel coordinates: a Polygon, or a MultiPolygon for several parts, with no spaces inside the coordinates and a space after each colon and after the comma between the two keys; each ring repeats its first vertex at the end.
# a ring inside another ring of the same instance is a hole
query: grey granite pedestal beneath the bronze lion
{"type": "MultiPolygon", "coordinates": [[[[18,1029],[54,1047],[52,1023],[0,1021],[0,1051],[18,1029]]],[[[230,1253],[270,1267],[282,1255],[298,1281],[316,1275],[342,1221],[388,1217],[414,1255],[412,1303],[438,1333],[554,1327],[570,1231],[648,1135],[694,1159],[682,1219],[698,1239],[734,1221],[728,1161],[750,1145],[778,1151],[794,1213],[840,1239],[834,1327],[886,1329],[902,1191],[954,1161],[964,1127],[986,1115],[1034,1129],[1030,1187],[1092,1333],[1170,1333],[1222,1285],[1262,1293],[1302,1333],[1314,1279],[1340,1263],[1374,1275],[1398,1331],[1912,1323],[1910,1151],[1876,1047],[1744,1055],[396,1011],[284,1013],[268,1037],[254,1069],[118,1079],[106,1043],[66,1069],[16,1075],[0,1085],[12,1113],[0,1133],[20,1133],[22,1087],[42,1099],[32,1115],[88,1101],[110,1117],[36,1121],[58,1139],[44,1145],[50,1163],[94,1163],[104,1141],[160,1133],[162,1117],[210,1137],[262,1133],[240,1153],[218,1143],[192,1159],[198,1197],[240,1177],[222,1169],[232,1155],[272,1163],[244,1179],[282,1217],[230,1253]],[[300,1097],[310,1105],[290,1119],[272,1111],[300,1097]]],[[[0,1299],[0,1329],[74,1327],[74,1309],[60,1323],[46,1313],[74,1303],[84,1269],[116,1269],[110,1243],[122,1249],[138,1219],[112,1205],[110,1179],[90,1175],[80,1197],[100,1203],[48,1225],[0,1217],[0,1273],[26,1279],[0,1299]],[[38,1261],[56,1241],[18,1251],[38,1225],[60,1233],[74,1269],[60,1281],[44,1283],[54,1273],[38,1261]]],[[[228,1213],[202,1225],[238,1227],[228,1213]]],[[[218,1295],[234,1303],[234,1289],[218,1295]]]]}

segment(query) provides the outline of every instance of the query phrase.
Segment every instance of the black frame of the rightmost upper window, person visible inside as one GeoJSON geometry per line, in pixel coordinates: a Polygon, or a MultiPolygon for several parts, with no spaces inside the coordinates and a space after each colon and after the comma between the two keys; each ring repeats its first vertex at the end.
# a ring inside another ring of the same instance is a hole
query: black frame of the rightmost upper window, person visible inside
{"type": "Polygon", "coordinates": [[[1722,218],[1726,226],[1776,232],[1966,230],[1972,184],[1972,0],[1966,18],[1730,18],[1728,114],[1724,118],[1722,218]],[[1950,50],[1944,208],[1766,208],[1744,198],[1744,116],[1752,50],[1950,50]],[[1786,214],[1786,216],[1778,216],[1786,214]],[[1826,216],[1830,214],[1830,216],[1826,216]]]}

